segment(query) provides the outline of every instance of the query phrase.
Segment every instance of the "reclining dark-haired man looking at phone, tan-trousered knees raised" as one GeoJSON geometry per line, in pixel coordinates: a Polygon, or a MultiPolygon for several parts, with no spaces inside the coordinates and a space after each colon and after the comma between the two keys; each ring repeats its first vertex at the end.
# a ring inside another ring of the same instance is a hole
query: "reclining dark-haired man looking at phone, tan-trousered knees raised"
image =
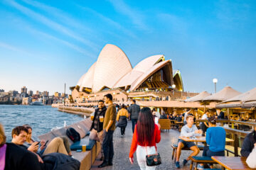
{"type": "MultiPolygon", "coordinates": [[[[38,152],[38,142],[33,142],[29,147],[27,147],[26,145],[23,145],[24,142],[26,142],[27,140],[27,135],[28,135],[28,129],[26,127],[17,126],[11,132],[11,137],[12,137],[11,142],[21,147],[25,147],[26,149],[35,153],[36,155],[38,154],[45,155],[45,154],[58,152],[58,153],[69,155],[70,157],[72,156],[70,145],[68,143],[68,137],[55,137],[52,141],[50,141],[50,143],[48,144],[48,146],[44,151],[38,152]]],[[[43,147],[45,144],[46,142],[43,144],[43,147]]]]}

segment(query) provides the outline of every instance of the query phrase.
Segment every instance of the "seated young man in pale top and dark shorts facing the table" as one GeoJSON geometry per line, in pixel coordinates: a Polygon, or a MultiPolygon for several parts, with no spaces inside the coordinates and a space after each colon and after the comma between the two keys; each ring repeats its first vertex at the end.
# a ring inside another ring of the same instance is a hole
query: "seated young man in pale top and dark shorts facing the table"
{"type": "MultiPolygon", "coordinates": [[[[181,128],[181,137],[200,137],[202,134],[202,130],[198,130],[198,128],[196,128],[196,125],[193,125],[194,121],[192,115],[188,115],[186,117],[186,122],[187,124],[181,128]]],[[[200,152],[200,149],[196,146],[194,142],[186,142],[184,140],[178,139],[178,148],[176,153],[175,164],[176,168],[178,169],[181,167],[179,164],[179,158],[181,156],[181,149],[183,147],[188,147],[193,151],[193,153],[191,153],[191,155],[187,159],[183,160],[183,166],[186,165],[190,157],[196,156],[200,152]]]]}

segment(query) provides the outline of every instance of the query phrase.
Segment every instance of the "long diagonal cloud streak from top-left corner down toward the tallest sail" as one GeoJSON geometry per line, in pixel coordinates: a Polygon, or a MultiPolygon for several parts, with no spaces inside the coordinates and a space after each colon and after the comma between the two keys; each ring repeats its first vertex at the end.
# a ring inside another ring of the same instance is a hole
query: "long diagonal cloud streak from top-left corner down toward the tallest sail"
{"type": "Polygon", "coordinates": [[[49,28],[52,28],[53,30],[61,32],[65,35],[68,35],[71,38],[74,38],[75,40],[78,40],[78,41],[84,43],[88,47],[91,47],[92,50],[95,50],[95,51],[98,50],[97,45],[95,45],[93,42],[91,42],[90,40],[86,40],[85,38],[81,38],[79,35],[74,33],[72,30],[66,28],[65,26],[62,26],[59,23],[51,21],[49,18],[46,18],[46,16],[36,13],[36,12],[32,11],[31,9],[26,8],[25,6],[22,6],[21,4],[16,3],[15,1],[9,0],[7,2],[11,6],[14,6],[14,8],[16,8],[19,11],[21,11],[22,13],[26,14],[26,16],[29,16],[29,17],[35,19],[36,21],[40,21],[41,23],[48,26],[49,28]]]}

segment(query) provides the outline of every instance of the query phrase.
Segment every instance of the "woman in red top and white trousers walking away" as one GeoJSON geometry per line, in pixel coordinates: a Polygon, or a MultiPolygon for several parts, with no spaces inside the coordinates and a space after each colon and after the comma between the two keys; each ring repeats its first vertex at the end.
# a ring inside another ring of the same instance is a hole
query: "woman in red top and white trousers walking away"
{"type": "Polygon", "coordinates": [[[156,169],[156,166],[146,166],[146,154],[156,154],[156,143],[161,140],[160,125],[154,123],[150,108],[142,108],[132,137],[129,161],[134,163],[133,154],[137,154],[140,169],[156,169]]]}

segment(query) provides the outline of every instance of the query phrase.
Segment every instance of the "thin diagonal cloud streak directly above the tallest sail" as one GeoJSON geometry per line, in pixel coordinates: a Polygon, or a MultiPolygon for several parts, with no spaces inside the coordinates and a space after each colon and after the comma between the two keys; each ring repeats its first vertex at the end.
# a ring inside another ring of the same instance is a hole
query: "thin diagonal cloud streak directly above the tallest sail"
{"type": "Polygon", "coordinates": [[[91,8],[87,8],[84,6],[80,6],[80,8],[84,9],[85,11],[88,11],[90,13],[93,13],[95,16],[100,18],[102,21],[105,21],[105,23],[112,25],[114,28],[117,28],[118,30],[121,30],[123,33],[126,33],[127,35],[131,36],[132,38],[137,38],[132,31],[128,30],[127,28],[124,28],[116,21],[113,21],[110,18],[107,18],[106,16],[103,16],[101,13],[98,13],[97,11],[92,10],[91,8]]]}

